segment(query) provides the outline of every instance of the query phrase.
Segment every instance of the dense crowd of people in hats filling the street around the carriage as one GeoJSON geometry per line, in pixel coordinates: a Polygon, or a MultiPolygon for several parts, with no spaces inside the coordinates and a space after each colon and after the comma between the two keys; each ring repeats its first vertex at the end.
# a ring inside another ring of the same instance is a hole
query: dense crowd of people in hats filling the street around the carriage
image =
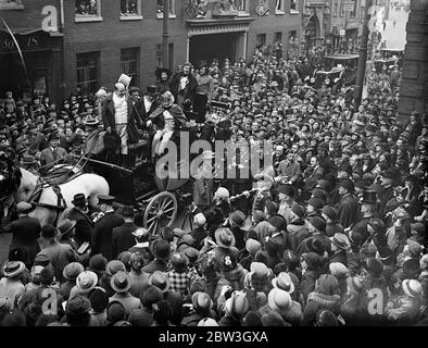
{"type": "MultiPolygon", "coordinates": [[[[426,324],[426,115],[398,122],[400,83],[386,70],[367,76],[357,109],[344,86],[315,89],[320,57],[257,51],[249,62],[160,70],[142,98],[130,89],[129,108],[141,105],[138,136],[163,108],[158,154],[185,110],[214,125],[215,139],[272,140],[272,167],[219,187],[197,178],[194,227],[158,235],[133,207],[115,210],[112,196],[99,196],[101,212],[92,215],[76,192],[58,226],[40,226],[32,206],[17,203],[17,219],[4,227],[13,237],[1,270],[0,325],[426,324]]],[[[122,132],[105,112],[121,112],[115,100],[124,89],[100,89],[97,99],[73,94],[61,107],[8,94],[3,156],[37,171],[81,146],[85,125],[103,121],[122,132]]]]}

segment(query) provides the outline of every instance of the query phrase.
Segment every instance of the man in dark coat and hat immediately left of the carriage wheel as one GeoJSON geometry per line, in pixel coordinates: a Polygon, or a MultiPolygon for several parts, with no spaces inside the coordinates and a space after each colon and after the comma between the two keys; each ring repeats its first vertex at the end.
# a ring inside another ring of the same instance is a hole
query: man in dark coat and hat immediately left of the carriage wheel
{"type": "Polygon", "coordinates": [[[124,224],[113,228],[112,233],[112,258],[116,259],[122,251],[128,250],[135,244],[135,232],[138,226],[134,224],[134,208],[131,206],[125,206],[122,211],[124,217],[124,224]]]}

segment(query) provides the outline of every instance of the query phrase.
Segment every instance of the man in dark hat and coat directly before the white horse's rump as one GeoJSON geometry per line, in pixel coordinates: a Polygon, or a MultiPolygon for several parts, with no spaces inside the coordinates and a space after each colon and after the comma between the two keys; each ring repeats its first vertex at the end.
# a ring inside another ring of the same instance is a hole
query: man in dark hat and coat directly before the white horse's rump
{"type": "Polygon", "coordinates": [[[76,194],[72,200],[73,208],[65,214],[65,219],[76,221],[75,238],[79,245],[89,243],[93,234],[93,221],[89,217],[88,201],[85,194],[76,194]]]}

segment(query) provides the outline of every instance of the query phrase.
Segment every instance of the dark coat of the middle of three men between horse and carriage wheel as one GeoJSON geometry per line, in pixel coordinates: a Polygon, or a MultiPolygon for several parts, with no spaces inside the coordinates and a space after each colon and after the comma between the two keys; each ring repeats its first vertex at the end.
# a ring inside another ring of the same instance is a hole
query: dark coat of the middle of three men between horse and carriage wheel
{"type": "Polygon", "coordinates": [[[93,228],[91,243],[91,256],[102,253],[108,260],[112,260],[112,233],[114,227],[124,224],[124,220],[115,212],[109,212],[97,221],[93,228]]]}

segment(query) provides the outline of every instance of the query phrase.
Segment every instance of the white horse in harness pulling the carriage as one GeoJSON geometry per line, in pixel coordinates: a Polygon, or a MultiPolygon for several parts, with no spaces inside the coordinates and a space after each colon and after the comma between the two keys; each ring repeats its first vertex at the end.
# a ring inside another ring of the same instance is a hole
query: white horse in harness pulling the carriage
{"type": "MultiPolygon", "coordinates": [[[[22,167],[20,167],[20,171],[22,177],[20,187],[15,192],[16,203],[27,201],[32,197],[39,178],[37,175],[22,167]]],[[[109,184],[105,178],[100,175],[89,173],[76,176],[70,182],[59,185],[59,187],[61,188],[61,194],[67,208],[73,207],[72,200],[76,194],[84,194],[85,197],[89,197],[89,206],[95,208],[98,204],[97,196],[109,195],[110,191],[109,184]]],[[[41,225],[53,224],[61,214],[61,211],[54,208],[58,206],[58,196],[53,191],[53,188],[43,188],[37,203],[41,204],[41,207],[37,206],[29,215],[38,219],[41,225]],[[47,208],[47,206],[51,206],[52,208],[47,208]]]]}

